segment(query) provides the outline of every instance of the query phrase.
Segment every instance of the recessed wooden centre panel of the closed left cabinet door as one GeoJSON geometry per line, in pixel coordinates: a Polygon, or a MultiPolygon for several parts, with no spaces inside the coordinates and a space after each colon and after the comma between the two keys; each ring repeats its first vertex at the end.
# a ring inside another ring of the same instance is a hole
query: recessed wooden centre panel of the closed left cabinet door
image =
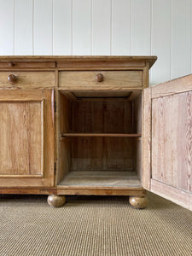
{"type": "Polygon", "coordinates": [[[0,175],[43,175],[41,109],[41,102],[1,102],[0,175]]]}

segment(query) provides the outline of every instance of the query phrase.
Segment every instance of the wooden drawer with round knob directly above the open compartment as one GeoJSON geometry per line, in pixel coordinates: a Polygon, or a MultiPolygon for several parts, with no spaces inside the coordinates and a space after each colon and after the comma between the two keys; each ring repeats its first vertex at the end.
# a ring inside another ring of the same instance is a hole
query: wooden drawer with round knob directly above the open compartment
{"type": "Polygon", "coordinates": [[[59,87],[63,90],[142,89],[143,71],[61,71],[59,87]]]}

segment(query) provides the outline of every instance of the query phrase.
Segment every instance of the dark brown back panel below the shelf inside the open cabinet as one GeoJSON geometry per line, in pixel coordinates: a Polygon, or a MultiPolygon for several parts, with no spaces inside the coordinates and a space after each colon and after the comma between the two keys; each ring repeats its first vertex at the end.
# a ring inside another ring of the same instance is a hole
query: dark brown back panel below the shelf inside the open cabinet
{"type": "Polygon", "coordinates": [[[73,137],[72,171],[133,171],[135,138],[73,137]]]}

